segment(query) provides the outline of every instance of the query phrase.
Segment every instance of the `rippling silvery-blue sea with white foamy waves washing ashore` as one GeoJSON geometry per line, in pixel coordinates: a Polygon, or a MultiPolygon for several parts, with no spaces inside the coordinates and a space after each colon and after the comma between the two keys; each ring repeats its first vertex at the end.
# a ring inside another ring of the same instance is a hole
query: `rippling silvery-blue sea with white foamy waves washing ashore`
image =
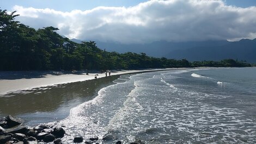
{"type": "Polygon", "coordinates": [[[67,135],[99,143],[256,143],[256,68],[123,75],[70,110],[67,135]],[[106,135],[117,140],[101,140],[106,135]]]}

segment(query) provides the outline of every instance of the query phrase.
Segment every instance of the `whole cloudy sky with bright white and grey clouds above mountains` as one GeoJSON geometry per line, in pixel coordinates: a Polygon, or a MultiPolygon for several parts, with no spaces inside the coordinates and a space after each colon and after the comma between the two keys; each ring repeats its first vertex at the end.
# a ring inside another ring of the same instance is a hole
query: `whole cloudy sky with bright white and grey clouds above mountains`
{"type": "Polygon", "coordinates": [[[0,0],[17,21],[70,39],[152,41],[256,38],[255,0],[0,0]]]}

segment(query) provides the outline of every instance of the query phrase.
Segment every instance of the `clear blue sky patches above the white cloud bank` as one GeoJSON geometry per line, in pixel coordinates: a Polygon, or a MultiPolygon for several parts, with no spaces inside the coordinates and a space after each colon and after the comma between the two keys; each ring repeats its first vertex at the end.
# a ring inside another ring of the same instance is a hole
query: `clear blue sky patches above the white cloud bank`
{"type": "MultiPolygon", "coordinates": [[[[256,0],[223,0],[227,5],[235,5],[236,7],[256,6],[256,0]]],[[[14,5],[23,7],[33,7],[38,9],[50,8],[60,11],[71,11],[74,9],[88,10],[99,6],[105,7],[132,7],[147,0],[1,0],[1,9],[11,10],[14,5]]]]}

